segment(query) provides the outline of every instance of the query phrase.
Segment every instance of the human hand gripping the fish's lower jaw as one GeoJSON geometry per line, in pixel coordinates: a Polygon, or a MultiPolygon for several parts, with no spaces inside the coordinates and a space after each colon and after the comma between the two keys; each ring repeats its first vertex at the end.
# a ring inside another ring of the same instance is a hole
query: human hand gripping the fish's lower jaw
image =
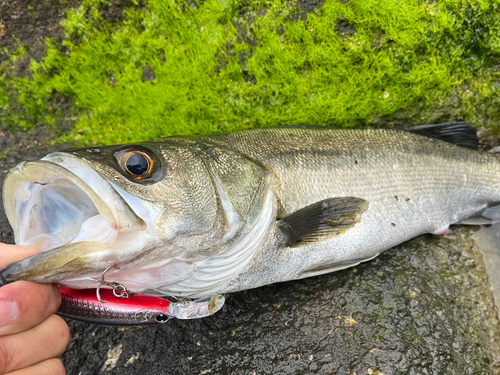
{"type": "MultiPolygon", "coordinates": [[[[0,269],[39,250],[0,243],[0,269]]],[[[58,358],[68,346],[69,328],[54,313],[59,289],[18,281],[0,288],[0,374],[64,375],[58,358]]]]}

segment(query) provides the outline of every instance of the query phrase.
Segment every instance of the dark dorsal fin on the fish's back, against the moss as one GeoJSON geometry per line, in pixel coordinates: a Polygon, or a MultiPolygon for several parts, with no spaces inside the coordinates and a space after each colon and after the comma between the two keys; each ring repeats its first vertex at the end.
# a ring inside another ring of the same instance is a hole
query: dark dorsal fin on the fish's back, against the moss
{"type": "Polygon", "coordinates": [[[466,122],[445,122],[406,128],[407,131],[477,150],[479,141],[475,128],[466,122]]]}

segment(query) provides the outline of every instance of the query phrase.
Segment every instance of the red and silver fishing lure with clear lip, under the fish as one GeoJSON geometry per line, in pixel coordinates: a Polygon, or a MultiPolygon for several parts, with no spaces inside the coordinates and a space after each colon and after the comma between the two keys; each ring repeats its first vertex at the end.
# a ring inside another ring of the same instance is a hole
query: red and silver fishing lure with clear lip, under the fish
{"type": "Polygon", "coordinates": [[[171,318],[195,319],[213,315],[224,304],[223,296],[196,301],[172,302],[164,298],[131,294],[117,297],[111,289],[101,289],[105,303],[95,289],[70,289],[60,286],[61,307],[58,313],[68,318],[98,324],[145,325],[165,323],[171,318]]]}

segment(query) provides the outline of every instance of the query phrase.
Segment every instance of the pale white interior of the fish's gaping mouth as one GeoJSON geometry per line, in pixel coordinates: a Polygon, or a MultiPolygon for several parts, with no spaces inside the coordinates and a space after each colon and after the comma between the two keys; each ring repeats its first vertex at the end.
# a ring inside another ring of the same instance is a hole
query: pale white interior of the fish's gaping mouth
{"type": "MultiPolygon", "coordinates": [[[[13,227],[18,244],[42,251],[74,242],[112,244],[120,232],[145,229],[137,228],[137,214],[90,166],[71,155],[51,154],[42,160],[65,168],[76,178],[62,176],[57,168],[44,169],[36,178],[17,177],[12,197],[15,214],[11,219],[16,221],[13,227]],[[89,192],[98,192],[99,208],[89,192]],[[99,212],[103,210],[106,218],[99,212]]],[[[137,202],[134,205],[138,207],[137,202]]]]}

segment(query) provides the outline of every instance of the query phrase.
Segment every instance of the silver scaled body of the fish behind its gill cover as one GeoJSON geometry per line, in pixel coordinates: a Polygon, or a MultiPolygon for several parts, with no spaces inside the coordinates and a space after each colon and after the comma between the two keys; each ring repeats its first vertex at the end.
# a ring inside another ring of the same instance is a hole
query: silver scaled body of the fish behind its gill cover
{"type": "Polygon", "coordinates": [[[500,202],[495,156],[404,131],[282,128],[209,138],[272,170],[287,213],[333,197],[370,204],[354,228],[312,246],[279,249],[272,231],[227,291],[370,259],[500,202]]]}

